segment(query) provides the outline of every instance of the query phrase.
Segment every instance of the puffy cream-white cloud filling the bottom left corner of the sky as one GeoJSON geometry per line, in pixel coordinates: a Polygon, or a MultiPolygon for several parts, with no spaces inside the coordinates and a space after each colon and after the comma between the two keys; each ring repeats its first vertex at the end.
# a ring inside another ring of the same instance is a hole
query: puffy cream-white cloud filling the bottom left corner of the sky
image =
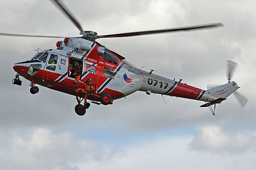
{"type": "Polygon", "coordinates": [[[46,128],[1,129],[0,164],[3,169],[79,169],[87,161],[107,161],[121,150],[104,149],[101,144],[71,132],[53,133],[46,128]]]}

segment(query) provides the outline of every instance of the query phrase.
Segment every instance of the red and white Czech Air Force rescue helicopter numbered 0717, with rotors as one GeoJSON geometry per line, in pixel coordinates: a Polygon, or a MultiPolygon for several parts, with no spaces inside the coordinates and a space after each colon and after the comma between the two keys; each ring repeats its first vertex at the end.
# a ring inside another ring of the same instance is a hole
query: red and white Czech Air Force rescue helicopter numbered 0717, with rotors
{"type": "MultiPolygon", "coordinates": [[[[29,80],[30,92],[35,94],[39,91],[36,84],[48,87],[53,90],[75,95],[78,104],[75,112],[78,115],[84,115],[86,109],[81,104],[84,94],[76,93],[74,89],[82,87],[88,79],[92,80],[95,87],[93,93],[88,96],[91,103],[109,105],[114,100],[123,98],[136,91],[145,91],[146,94],[157,93],[161,95],[177,96],[193,100],[204,101],[205,104],[200,107],[209,107],[212,114],[215,115],[216,104],[220,104],[227,97],[234,93],[240,87],[236,82],[230,82],[236,63],[228,61],[228,83],[202,90],[197,87],[181,83],[179,81],[167,79],[150,72],[143,71],[125,63],[121,55],[113,52],[95,40],[98,38],[128,37],[145,34],[157,34],[165,32],[189,31],[205,28],[216,28],[223,26],[222,23],[211,23],[207,25],[190,26],[166,30],[142,31],[111,35],[97,35],[93,31],[83,31],[77,19],[67,10],[61,1],[53,1],[79,29],[81,37],[57,37],[41,35],[22,35],[0,33],[4,36],[23,36],[23,37],[49,37],[65,38],[56,43],[57,49],[38,51],[29,61],[14,64],[13,69],[17,72],[12,83],[22,85],[19,76],[29,80]],[[54,62],[52,62],[54,61],[54,62]],[[71,75],[71,67],[77,62],[81,66],[81,76],[78,82],[71,75]],[[211,107],[214,105],[214,108],[211,107]]],[[[241,106],[244,106],[247,99],[236,93],[241,106]]]]}

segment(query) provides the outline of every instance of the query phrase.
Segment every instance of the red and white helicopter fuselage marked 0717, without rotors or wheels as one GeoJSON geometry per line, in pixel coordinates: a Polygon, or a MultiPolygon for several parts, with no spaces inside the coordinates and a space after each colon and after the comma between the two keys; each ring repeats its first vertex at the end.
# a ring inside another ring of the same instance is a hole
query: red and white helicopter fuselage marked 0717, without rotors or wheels
{"type": "MultiPolygon", "coordinates": [[[[221,93],[220,88],[217,91],[202,90],[131,67],[122,61],[122,56],[92,41],[69,38],[68,43],[61,41],[58,45],[57,50],[38,52],[30,61],[14,64],[14,70],[34,84],[71,95],[75,95],[74,89],[82,87],[90,78],[97,87],[96,95],[90,96],[92,101],[99,101],[99,96],[103,93],[109,93],[116,100],[138,90],[147,94],[157,93],[205,102],[221,97],[214,95],[221,93]],[[53,57],[57,58],[54,63],[53,57]],[[82,65],[81,77],[77,83],[74,83],[75,78],[70,72],[75,61],[82,65]]],[[[223,86],[226,90],[221,94],[227,94],[227,91],[232,93],[239,88],[237,85],[236,89],[227,88],[234,86],[232,84],[223,86]]],[[[80,96],[83,97],[82,94],[80,96]]]]}

